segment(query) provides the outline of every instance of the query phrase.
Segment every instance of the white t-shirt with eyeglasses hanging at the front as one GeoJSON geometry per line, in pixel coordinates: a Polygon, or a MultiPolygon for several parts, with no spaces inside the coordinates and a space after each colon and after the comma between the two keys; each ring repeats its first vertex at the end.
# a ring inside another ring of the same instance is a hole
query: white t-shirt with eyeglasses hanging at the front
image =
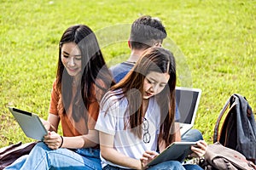
{"type": "MultiPolygon", "coordinates": [[[[124,116],[128,102],[126,98],[121,100],[113,95],[101,105],[96,129],[114,136],[113,148],[125,156],[140,159],[146,150],[157,149],[157,137],[160,132],[160,108],[154,97],[149,99],[148,110],[145,119],[148,121],[148,133],[150,134],[149,143],[145,144],[142,139],[135,136],[129,128],[125,129],[124,116]]],[[[145,131],[143,130],[143,133],[145,131]]],[[[109,165],[120,167],[110,161],[105,160],[102,156],[102,167],[109,165]]],[[[127,168],[127,167],[123,167],[127,168]]]]}

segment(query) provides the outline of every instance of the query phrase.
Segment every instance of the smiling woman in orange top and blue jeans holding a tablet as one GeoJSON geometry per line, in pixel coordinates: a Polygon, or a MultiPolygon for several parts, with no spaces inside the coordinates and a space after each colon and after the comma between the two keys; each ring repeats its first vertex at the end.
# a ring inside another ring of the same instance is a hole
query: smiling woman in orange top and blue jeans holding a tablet
{"type": "Polygon", "coordinates": [[[51,92],[49,130],[44,142],[6,169],[101,169],[95,124],[102,95],[112,85],[96,36],[88,26],[69,27],[62,35],[51,92]],[[57,133],[61,122],[63,137],[57,133]]]}

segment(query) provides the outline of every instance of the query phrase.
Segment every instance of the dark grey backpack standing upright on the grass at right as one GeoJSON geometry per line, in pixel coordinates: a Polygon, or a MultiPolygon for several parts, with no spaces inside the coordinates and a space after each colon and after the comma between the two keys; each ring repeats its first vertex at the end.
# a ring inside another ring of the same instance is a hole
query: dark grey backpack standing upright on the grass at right
{"type": "Polygon", "coordinates": [[[256,163],[256,123],[252,108],[245,97],[233,94],[228,99],[215,124],[213,142],[237,150],[248,161],[256,163]],[[219,130],[221,119],[228,108],[230,110],[225,114],[219,130]]]}

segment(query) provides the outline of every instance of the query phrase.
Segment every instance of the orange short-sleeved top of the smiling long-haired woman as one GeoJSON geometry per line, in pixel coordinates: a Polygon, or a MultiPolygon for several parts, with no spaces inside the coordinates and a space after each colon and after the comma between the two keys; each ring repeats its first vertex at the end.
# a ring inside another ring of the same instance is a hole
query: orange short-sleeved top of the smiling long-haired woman
{"type": "MultiPolygon", "coordinates": [[[[73,90],[73,94],[76,92],[76,88],[73,88],[71,90],[73,90]]],[[[61,94],[56,88],[55,80],[51,92],[49,113],[60,117],[63,136],[73,137],[84,135],[88,133],[89,129],[94,129],[99,114],[99,102],[96,99],[96,94],[98,93],[96,93],[95,84],[92,86],[90,92],[92,97],[90,99],[88,111],[86,111],[85,105],[82,106],[83,111],[81,112],[81,114],[84,114],[85,118],[80,118],[78,122],[75,122],[72,116],[73,105],[70,105],[69,108],[64,111],[64,114],[61,113],[64,108],[62,104],[61,94]]],[[[70,103],[73,104],[73,98],[70,103]]]]}

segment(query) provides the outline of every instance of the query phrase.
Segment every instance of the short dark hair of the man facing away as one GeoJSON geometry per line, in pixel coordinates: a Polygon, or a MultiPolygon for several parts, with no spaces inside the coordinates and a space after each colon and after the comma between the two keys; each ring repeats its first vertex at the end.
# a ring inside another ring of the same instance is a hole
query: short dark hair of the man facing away
{"type": "Polygon", "coordinates": [[[142,16],[131,25],[131,48],[150,48],[154,43],[163,42],[166,36],[166,28],[159,19],[148,15],[142,16]]]}

